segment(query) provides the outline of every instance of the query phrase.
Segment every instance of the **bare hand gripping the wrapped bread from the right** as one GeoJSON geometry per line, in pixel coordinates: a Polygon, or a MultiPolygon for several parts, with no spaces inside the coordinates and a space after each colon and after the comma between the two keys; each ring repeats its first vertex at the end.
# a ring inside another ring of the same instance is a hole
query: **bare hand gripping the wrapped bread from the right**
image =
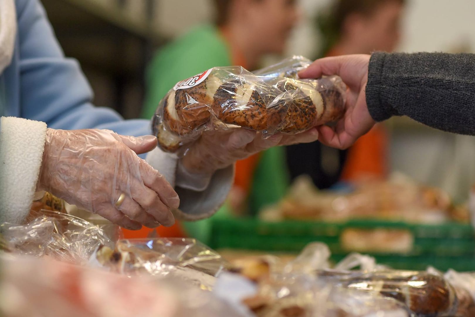
{"type": "Polygon", "coordinates": [[[338,75],[348,86],[346,111],[336,126],[318,127],[319,141],[325,145],[346,149],[376,123],[366,105],[366,83],[370,55],[346,55],[321,58],[299,73],[300,78],[319,78],[338,75]]]}

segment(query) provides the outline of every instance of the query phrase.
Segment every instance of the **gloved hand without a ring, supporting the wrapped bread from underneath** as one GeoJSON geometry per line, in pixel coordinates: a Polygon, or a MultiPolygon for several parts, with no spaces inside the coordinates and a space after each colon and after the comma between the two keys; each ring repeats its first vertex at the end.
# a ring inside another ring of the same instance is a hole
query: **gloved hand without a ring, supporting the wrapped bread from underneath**
{"type": "Polygon", "coordinates": [[[190,173],[209,175],[270,147],[309,143],[317,139],[315,128],[293,135],[278,133],[267,139],[261,133],[244,128],[205,131],[190,146],[181,164],[190,173]]]}

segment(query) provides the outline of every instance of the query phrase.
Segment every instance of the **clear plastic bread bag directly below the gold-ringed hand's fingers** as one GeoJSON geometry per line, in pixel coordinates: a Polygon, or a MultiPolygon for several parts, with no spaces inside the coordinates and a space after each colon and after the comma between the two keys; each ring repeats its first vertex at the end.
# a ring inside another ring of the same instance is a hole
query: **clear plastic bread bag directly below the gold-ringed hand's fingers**
{"type": "Polygon", "coordinates": [[[115,249],[100,247],[91,263],[126,274],[172,276],[211,289],[227,262],[195,239],[120,240],[115,249]]]}

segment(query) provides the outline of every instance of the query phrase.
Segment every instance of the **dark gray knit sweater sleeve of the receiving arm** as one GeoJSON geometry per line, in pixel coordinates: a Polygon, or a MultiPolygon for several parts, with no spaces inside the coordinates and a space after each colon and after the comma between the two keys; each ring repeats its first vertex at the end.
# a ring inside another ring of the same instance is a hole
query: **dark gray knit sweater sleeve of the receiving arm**
{"type": "Polygon", "coordinates": [[[475,135],[475,54],[373,53],[366,103],[376,121],[407,115],[475,135]]]}

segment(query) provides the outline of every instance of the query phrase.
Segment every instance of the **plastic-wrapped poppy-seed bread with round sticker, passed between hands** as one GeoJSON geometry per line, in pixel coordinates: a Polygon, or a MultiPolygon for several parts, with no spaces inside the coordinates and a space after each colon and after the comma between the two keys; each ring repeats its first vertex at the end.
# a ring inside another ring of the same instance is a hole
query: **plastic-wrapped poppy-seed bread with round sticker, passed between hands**
{"type": "Polygon", "coordinates": [[[214,67],[180,81],[152,120],[160,147],[177,152],[204,130],[243,127],[265,136],[295,134],[339,119],[346,86],[336,76],[297,79],[305,65],[308,59],[293,57],[259,71],[260,76],[243,67],[214,67]]]}

